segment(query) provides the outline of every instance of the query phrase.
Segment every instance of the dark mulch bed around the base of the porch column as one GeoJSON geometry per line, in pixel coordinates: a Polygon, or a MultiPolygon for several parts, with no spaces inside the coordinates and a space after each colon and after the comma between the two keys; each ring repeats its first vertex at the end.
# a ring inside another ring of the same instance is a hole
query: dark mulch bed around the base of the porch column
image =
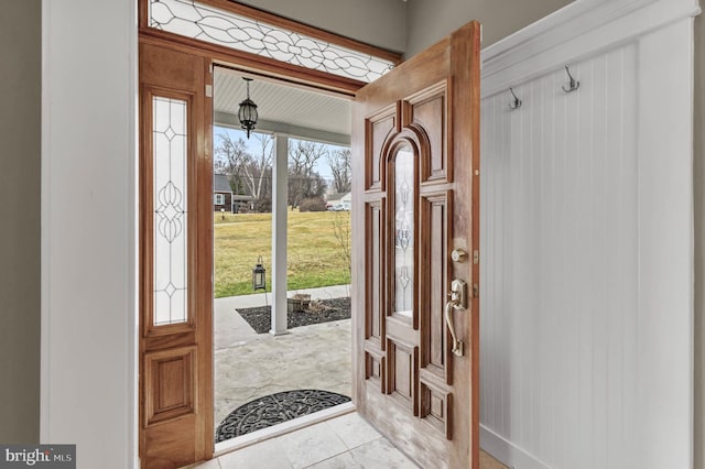
{"type": "MultiPolygon", "coordinates": [[[[265,334],[272,327],[271,310],[271,306],[259,306],[256,308],[241,308],[238,309],[238,313],[257,334],[265,334]]],[[[350,297],[318,299],[312,302],[310,310],[289,313],[286,315],[286,325],[292,329],[294,327],[349,318],[350,297]]]]}

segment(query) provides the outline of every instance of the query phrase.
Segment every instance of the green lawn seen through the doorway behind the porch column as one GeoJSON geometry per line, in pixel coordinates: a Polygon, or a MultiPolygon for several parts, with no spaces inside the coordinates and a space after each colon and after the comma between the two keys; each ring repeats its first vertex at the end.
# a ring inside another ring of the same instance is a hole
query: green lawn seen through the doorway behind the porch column
{"type": "MultiPolygon", "coordinates": [[[[215,297],[252,292],[252,268],[262,255],[271,290],[272,215],[215,214],[215,297]]],[[[347,211],[289,212],[288,290],[350,283],[348,259],[336,237],[347,227],[347,211]]],[[[348,244],[349,246],[349,244],[348,244]]]]}

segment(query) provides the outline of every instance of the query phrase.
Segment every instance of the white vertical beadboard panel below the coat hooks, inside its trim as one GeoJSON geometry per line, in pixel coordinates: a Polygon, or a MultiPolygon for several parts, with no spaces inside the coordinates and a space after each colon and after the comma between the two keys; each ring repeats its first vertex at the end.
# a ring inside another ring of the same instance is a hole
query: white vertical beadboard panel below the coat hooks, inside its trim
{"type": "Polygon", "coordinates": [[[636,46],[571,70],[481,103],[480,415],[518,468],[627,467],[634,422],[636,46]]]}

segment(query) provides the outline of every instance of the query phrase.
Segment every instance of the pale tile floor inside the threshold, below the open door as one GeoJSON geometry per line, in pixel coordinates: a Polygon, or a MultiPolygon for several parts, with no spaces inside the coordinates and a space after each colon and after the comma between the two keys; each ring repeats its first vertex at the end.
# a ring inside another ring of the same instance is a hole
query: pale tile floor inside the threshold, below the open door
{"type": "MultiPolygon", "coordinates": [[[[417,469],[357,413],[225,454],[191,469],[417,469]]],[[[507,469],[480,455],[480,469],[507,469]]]]}

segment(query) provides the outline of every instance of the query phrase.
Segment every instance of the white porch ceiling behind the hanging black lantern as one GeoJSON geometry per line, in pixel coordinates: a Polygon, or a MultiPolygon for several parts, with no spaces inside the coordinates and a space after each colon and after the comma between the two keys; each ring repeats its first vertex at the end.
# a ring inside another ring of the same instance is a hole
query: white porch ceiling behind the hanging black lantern
{"type": "MultiPolygon", "coordinates": [[[[247,96],[242,74],[223,67],[214,72],[216,124],[237,124],[240,101],[247,96]]],[[[339,141],[350,134],[350,100],[302,87],[252,77],[250,98],[257,103],[258,129],[296,137],[339,141]],[[289,131],[286,131],[289,129],[289,131]],[[291,130],[295,129],[295,130],[291,130]]]]}

